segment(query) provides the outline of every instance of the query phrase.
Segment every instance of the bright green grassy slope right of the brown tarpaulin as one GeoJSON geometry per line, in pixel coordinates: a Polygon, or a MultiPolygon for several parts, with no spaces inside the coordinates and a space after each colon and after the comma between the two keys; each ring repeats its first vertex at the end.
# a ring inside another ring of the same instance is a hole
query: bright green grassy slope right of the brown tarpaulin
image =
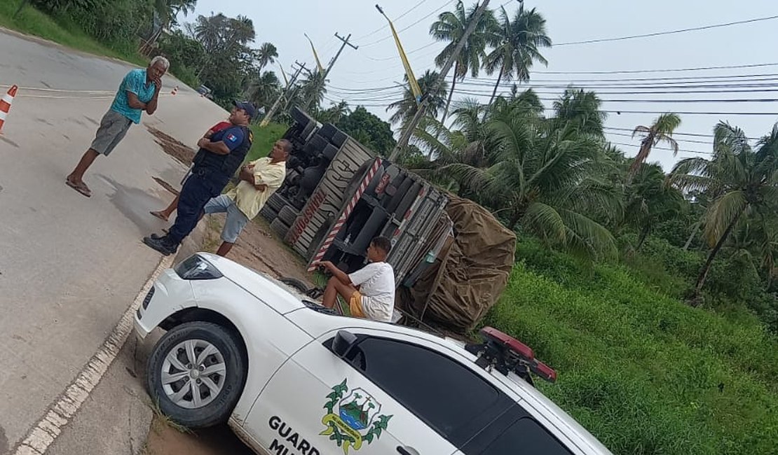
{"type": "Polygon", "coordinates": [[[619,454],[775,453],[778,341],[626,266],[520,246],[485,318],[559,373],[541,390],[619,454]],[[536,262],[537,261],[537,262],[536,262]]]}

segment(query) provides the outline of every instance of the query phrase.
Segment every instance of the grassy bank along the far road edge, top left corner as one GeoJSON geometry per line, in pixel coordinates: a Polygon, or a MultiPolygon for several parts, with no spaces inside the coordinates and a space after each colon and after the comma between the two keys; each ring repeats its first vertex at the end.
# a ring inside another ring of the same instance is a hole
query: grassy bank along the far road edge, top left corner
{"type": "Polygon", "coordinates": [[[4,0],[0,2],[0,26],[29,35],[40,36],[45,40],[60,43],[89,54],[119,58],[133,64],[145,66],[146,61],[138,54],[121,54],[98,43],[79,27],[65,20],[55,20],[43,12],[26,5],[16,19],[13,14],[19,8],[21,0],[4,0]]]}

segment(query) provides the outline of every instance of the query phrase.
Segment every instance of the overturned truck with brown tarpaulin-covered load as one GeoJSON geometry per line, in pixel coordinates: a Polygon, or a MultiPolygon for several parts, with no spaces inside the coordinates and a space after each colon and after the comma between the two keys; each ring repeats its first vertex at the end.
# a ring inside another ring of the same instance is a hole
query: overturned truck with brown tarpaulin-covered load
{"type": "Polygon", "coordinates": [[[406,323],[470,330],[504,289],[516,237],[482,207],[450,196],[300,109],[283,186],[260,214],[307,260],[350,273],[370,240],[391,240],[387,262],[406,323]],[[464,243],[463,243],[464,242],[464,243]]]}

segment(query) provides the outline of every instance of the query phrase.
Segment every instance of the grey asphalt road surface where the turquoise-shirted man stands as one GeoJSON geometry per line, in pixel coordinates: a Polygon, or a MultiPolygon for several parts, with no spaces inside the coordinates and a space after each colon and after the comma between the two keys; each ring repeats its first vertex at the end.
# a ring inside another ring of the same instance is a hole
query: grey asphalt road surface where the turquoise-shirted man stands
{"type": "MultiPolygon", "coordinates": [[[[131,127],[85,181],[65,176],[131,67],[0,33],[0,90],[19,85],[0,135],[0,455],[19,443],[106,339],[160,256],[141,243],[166,226],[149,210],[185,168],[143,124],[131,127]]],[[[148,123],[185,144],[226,112],[163,79],[148,123]]]]}

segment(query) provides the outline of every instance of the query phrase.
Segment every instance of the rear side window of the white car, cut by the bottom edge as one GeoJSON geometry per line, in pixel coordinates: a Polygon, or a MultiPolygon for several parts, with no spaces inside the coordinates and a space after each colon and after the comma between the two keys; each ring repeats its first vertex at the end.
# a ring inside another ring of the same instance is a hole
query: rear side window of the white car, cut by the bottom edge
{"type": "Polygon", "coordinates": [[[525,417],[510,425],[503,434],[487,446],[489,455],[572,455],[554,436],[534,419],[525,417]]]}

